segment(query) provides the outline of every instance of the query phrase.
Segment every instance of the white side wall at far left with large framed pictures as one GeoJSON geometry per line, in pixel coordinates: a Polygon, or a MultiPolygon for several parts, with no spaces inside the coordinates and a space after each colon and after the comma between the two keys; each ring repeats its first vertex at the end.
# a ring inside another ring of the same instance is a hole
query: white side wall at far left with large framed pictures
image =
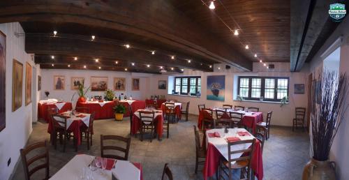
{"type": "MultiPolygon", "coordinates": [[[[24,52],[24,37],[16,37],[16,33],[24,33],[19,23],[0,24],[0,30],[6,34],[6,128],[0,132],[0,179],[8,179],[20,157],[20,149],[27,143],[31,133],[32,105],[25,106],[25,63],[31,56],[24,52]],[[23,64],[23,98],[22,107],[12,112],[12,69],[13,59],[23,64]],[[8,158],[11,163],[7,166],[8,158]]],[[[33,84],[36,84],[33,82],[33,84]]],[[[33,92],[34,93],[34,92],[33,92]]]]}

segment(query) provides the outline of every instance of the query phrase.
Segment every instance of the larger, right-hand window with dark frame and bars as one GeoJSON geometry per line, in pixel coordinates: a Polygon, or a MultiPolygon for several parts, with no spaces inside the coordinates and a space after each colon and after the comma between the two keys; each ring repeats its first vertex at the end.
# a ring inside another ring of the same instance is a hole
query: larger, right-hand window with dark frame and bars
{"type": "Polygon", "coordinates": [[[239,77],[238,94],[246,100],[279,102],[288,96],[288,77],[239,77]]]}

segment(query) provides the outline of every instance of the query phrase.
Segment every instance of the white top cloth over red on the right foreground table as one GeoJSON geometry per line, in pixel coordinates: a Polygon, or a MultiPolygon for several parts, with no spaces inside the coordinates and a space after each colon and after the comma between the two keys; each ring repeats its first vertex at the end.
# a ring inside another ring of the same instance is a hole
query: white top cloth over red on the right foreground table
{"type": "MultiPolygon", "coordinates": [[[[240,140],[253,140],[253,138],[255,138],[253,135],[245,135],[245,136],[239,136],[237,133],[235,135],[235,130],[237,132],[248,132],[246,129],[244,128],[229,128],[228,129],[229,132],[228,134],[224,133],[224,129],[211,129],[211,130],[207,130],[206,131],[206,143],[208,147],[208,143],[211,143],[214,145],[214,147],[216,147],[216,149],[218,149],[218,151],[222,154],[222,156],[228,160],[228,142],[226,140],[227,137],[239,137],[240,140]],[[221,137],[209,137],[207,134],[208,133],[214,133],[214,132],[218,132],[221,137]],[[224,136],[224,137],[223,137],[224,136]]],[[[237,151],[237,150],[241,150],[241,149],[247,149],[248,147],[251,146],[251,143],[248,144],[238,144],[238,145],[234,145],[232,146],[232,151],[237,151]]],[[[240,156],[242,156],[242,153],[235,153],[232,155],[231,158],[239,158],[240,156]]]]}

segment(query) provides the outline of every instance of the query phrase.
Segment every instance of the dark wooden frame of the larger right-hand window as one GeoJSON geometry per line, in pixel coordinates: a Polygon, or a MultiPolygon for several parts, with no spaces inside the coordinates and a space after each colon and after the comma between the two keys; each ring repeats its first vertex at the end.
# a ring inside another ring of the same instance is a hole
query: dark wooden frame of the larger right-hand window
{"type": "Polygon", "coordinates": [[[267,77],[267,76],[239,76],[237,82],[237,95],[240,95],[240,79],[248,79],[248,97],[244,97],[244,100],[260,100],[260,98],[252,98],[252,79],[260,79],[260,96],[263,96],[263,101],[280,102],[281,99],[277,98],[278,80],[288,80],[287,84],[287,96],[290,96],[290,77],[267,77]],[[274,79],[274,98],[265,98],[265,79],[274,79]]]}

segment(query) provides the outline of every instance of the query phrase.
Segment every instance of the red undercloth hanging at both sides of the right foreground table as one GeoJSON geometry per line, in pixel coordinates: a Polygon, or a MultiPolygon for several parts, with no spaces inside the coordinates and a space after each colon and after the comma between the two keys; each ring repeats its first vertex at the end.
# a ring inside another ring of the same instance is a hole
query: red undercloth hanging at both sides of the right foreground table
{"type": "MultiPolygon", "coordinates": [[[[205,180],[216,174],[221,156],[221,153],[216,149],[216,147],[209,143],[203,172],[205,180]]],[[[260,149],[260,142],[258,140],[255,142],[255,149],[251,158],[251,169],[255,173],[255,177],[257,177],[257,179],[263,179],[262,151],[260,149]]]]}

